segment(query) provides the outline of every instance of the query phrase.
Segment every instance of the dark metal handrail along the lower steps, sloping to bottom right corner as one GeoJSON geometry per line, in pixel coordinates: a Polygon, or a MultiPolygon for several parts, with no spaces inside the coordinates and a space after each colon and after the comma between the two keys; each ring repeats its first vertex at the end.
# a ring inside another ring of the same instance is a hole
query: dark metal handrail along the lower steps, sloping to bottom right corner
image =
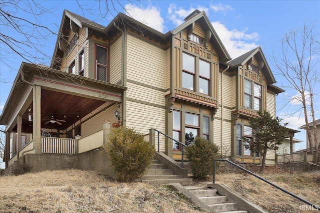
{"type": "Polygon", "coordinates": [[[315,208],[315,209],[317,209],[317,210],[319,210],[319,211],[320,211],[320,207],[318,207],[318,206],[316,206],[316,205],[314,205],[314,204],[311,204],[310,202],[308,202],[308,201],[306,201],[306,200],[304,200],[304,199],[302,199],[302,198],[300,198],[300,197],[298,197],[298,196],[294,195],[293,193],[290,193],[289,191],[286,191],[285,189],[283,189],[283,188],[281,188],[281,187],[279,187],[279,186],[277,186],[277,185],[275,185],[275,184],[273,184],[273,183],[269,182],[268,180],[266,180],[266,179],[264,179],[264,178],[262,178],[262,177],[260,177],[260,176],[258,176],[258,175],[256,175],[256,174],[254,174],[253,172],[250,172],[250,171],[249,171],[249,170],[247,170],[247,169],[244,169],[243,167],[240,167],[239,165],[237,165],[237,164],[235,164],[235,163],[233,163],[233,162],[231,162],[231,161],[229,161],[229,160],[227,160],[227,159],[214,159],[214,160],[213,160],[213,181],[212,181],[212,183],[213,183],[213,184],[214,184],[214,181],[215,181],[215,167],[216,167],[216,161],[226,161],[226,162],[228,162],[229,164],[231,164],[231,165],[233,165],[233,166],[235,166],[235,167],[239,168],[240,170],[243,170],[244,172],[247,172],[247,173],[249,173],[250,175],[253,175],[254,177],[256,177],[256,178],[260,179],[261,181],[264,181],[265,183],[270,184],[271,186],[273,186],[273,187],[275,187],[275,188],[277,188],[277,189],[281,190],[282,192],[284,192],[284,193],[286,193],[286,194],[288,194],[288,195],[290,195],[290,196],[292,196],[292,197],[294,197],[294,198],[298,199],[299,201],[302,201],[303,203],[305,203],[305,204],[307,204],[307,205],[311,206],[312,208],[315,208]]]}

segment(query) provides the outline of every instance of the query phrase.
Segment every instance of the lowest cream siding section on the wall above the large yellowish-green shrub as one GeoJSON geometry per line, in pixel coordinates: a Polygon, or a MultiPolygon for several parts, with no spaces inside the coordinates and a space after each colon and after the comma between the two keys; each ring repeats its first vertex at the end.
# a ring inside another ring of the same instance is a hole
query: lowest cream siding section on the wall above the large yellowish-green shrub
{"type": "MultiPolygon", "coordinates": [[[[155,128],[165,133],[165,109],[126,101],[126,126],[142,134],[155,128]]],[[[160,151],[165,151],[164,137],[160,136],[160,151]]]]}

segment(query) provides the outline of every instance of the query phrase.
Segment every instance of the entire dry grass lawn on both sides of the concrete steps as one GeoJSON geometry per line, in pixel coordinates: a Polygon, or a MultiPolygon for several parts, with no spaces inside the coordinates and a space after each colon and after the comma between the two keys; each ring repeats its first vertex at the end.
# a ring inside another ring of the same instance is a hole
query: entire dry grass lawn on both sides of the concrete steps
{"type": "MultiPolygon", "coordinates": [[[[269,213],[307,213],[304,203],[243,173],[216,174],[223,183],[269,213]]],[[[266,171],[270,182],[320,206],[320,172],[266,171]]],[[[194,184],[201,184],[194,182],[194,184]]],[[[207,183],[207,182],[206,182],[207,183]]],[[[94,171],[45,171],[0,177],[0,213],[199,213],[204,212],[166,187],[118,183],[94,171]]],[[[311,211],[312,213],[318,211],[311,211]]]]}

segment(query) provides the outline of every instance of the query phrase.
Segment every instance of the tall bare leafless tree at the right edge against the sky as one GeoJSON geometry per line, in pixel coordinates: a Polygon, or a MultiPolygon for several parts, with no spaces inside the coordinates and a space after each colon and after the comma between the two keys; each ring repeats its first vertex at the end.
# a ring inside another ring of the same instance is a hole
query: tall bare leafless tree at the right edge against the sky
{"type": "Polygon", "coordinates": [[[300,110],[303,110],[306,134],[310,151],[315,148],[315,155],[318,159],[318,142],[314,116],[313,88],[319,83],[318,54],[320,42],[315,33],[316,23],[304,22],[302,27],[286,32],[281,40],[281,52],[272,51],[271,60],[277,73],[286,78],[287,88],[293,89],[299,95],[293,96],[290,101],[298,102],[300,110]],[[294,99],[294,100],[293,100],[294,99]],[[311,116],[314,128],[314,141],[312,142],[308,117],[311,116]]]}

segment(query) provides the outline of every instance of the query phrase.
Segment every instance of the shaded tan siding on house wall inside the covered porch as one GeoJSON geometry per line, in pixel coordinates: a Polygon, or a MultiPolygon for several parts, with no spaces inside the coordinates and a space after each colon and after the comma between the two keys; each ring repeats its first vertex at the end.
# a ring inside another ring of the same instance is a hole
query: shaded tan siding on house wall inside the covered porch
{"type": "MultiPolygon", "coordinates": [[[[100,109],[102,108],[103,106],[100,107],[100,109]]],[[[102,129],[104,122],[109,122],[111,125],[112,123],[117,123],[118,120],[114,116],[115,110],[118,110],[119,115],[121,116],[121,108],[117,108],[116,105],[113,105],[98,115],[95,115],[90,120],[82,123],[81,136],[83,137],[102,129]]]]}

